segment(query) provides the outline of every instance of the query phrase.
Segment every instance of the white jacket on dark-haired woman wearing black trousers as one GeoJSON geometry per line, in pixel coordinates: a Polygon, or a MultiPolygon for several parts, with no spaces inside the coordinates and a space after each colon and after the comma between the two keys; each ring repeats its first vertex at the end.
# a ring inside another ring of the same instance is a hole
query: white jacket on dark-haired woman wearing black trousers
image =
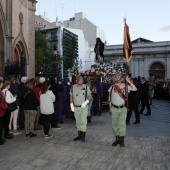
{"type": "Polygon", "coordinates": [[[44,115],[50,115],[54,113],[55,95],[51,90],[47,90],[46,93],[40,95],[40,110],[44,115]]]}

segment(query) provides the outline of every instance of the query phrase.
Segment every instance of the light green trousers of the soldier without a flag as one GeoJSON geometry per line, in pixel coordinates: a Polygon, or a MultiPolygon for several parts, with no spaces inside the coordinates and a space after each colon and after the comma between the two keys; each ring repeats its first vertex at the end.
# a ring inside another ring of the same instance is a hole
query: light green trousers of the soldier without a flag
{"type": "Polygon", "coordinates": [[[77,131],[86,132],[88,105],[85,108],[74,107],[77,131]]]}

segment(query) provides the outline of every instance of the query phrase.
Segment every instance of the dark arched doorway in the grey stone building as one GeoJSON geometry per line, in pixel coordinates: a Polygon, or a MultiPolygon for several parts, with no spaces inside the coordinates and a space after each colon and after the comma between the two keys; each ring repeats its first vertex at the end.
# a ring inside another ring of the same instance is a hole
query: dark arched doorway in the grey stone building
{"type": "Polygon", "coordinates": [[[165,78],[165,66],[160,62],[153,63],[150,67],[149,75],[160,79],[165,78]]]}

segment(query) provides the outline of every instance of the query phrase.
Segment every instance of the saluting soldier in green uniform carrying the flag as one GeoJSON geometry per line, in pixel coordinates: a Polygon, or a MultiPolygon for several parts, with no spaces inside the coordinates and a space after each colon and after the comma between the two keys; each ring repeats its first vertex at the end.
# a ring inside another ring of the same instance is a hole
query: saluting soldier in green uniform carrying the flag
{"type": "Polygon", "coordinates": [[[124,147],[124,136],[126,133],[126,116],[127,108],[125,107],[125,93],[130,91],[136,91],[137,88],[130,81],[130,78],[126,76],[126,82],[129,84],[127,87],[125,83],[122,83],[122,76],[117,73],[114,77],[115,84],[108,90],[109,92],[109,107],[112,113],[112,128],[113,133],[116,137],[116,141],[113,142],[112,146],[124,147]]]}

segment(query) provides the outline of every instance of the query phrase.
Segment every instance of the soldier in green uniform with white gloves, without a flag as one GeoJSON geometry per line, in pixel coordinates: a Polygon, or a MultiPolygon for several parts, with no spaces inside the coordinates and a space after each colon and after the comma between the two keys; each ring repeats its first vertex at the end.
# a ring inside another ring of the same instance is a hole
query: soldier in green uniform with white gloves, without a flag
{"type": "Polygon", "coordinates": [[[91,91],[87,85],[83,84],[83,78],[81,76],[76,76],[76,83],[77,84],[73,85],[70,90],[70,106],[71,110],[74,112],[78,130],[78,136],[74,138],[74,141],[82,140],[84,142],[91,91]]]}

